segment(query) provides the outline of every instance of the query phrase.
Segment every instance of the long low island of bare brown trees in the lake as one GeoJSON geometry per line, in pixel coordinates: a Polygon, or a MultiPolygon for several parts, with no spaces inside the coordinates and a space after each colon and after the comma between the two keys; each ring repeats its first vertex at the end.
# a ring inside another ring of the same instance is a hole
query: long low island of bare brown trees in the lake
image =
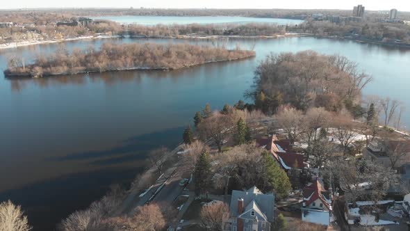
{"type": "Polygon", "coordinates": [[[188,44],[157,45],[152,43],[112,44],[101,49],[90,47],[69,54],[60,47],[49,56],[37,56],[25,65],[19,58],[10,58],[6,77],[44,77],[52,75],[108,72],[120,70],[177,70],[203,63],[233,61],[255,56],[255,51],[226,49],[188,44]]]}

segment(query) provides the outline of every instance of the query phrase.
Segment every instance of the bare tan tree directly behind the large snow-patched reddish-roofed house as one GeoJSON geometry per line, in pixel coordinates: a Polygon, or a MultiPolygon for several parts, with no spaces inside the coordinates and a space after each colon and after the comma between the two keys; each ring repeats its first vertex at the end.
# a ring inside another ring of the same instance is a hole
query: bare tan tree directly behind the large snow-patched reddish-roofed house
{"type": "Polygon", "coordinates": [[[290,142],[297,141],[300,132],[302,132],[302,111],[292,106],[279,107],[277,114],[274,116],[278,127],[284,129],[290,142]]]}

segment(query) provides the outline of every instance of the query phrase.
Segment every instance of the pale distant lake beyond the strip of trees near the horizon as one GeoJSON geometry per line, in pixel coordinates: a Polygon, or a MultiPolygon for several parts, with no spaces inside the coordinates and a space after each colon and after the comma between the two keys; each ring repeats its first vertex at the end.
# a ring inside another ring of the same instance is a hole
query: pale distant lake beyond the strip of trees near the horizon
{"type": "Polygon", "coordinates": [[[156,24],[221,24],[221,23],[235,23],[246,24],[250,22],[258,23],[275,23],[279,25],[295,25],[303,21],[297,19],[277,19],[277,18],[263,18],[263,17],[229,17],[229,16],[198,16],[198,17],[178,17],[178,16],[104,16],[92,17],[93,19],[104,19],[118,22],[120,24],[142,24],[142,25],[156,25],[156,24]]]}

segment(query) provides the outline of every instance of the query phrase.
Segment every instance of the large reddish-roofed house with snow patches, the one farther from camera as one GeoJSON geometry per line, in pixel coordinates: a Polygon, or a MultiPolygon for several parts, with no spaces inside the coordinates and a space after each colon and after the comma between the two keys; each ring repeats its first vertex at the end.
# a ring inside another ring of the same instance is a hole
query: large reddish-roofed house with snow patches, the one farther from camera
{"type": "Polygon", "coordinates": [[[287,139],[279,140],[277,136],[257,138],[256,146],[268,150],[285,170],[295,167],[302,170],[306,166],[304,155],[293,152],[292,145],[287,139]]]}

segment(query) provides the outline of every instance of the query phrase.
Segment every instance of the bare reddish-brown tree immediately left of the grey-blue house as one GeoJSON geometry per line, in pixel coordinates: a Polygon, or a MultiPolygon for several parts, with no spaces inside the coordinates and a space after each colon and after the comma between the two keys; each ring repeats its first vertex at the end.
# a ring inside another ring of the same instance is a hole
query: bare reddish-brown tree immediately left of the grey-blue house
{"type": "Polygon", "coordinates": [[[229,207],[222,201],[204,205],[200,213],[202,225],[206,230],[222,230],[222,217],[227,212],[229,212],[229,207]]]}

